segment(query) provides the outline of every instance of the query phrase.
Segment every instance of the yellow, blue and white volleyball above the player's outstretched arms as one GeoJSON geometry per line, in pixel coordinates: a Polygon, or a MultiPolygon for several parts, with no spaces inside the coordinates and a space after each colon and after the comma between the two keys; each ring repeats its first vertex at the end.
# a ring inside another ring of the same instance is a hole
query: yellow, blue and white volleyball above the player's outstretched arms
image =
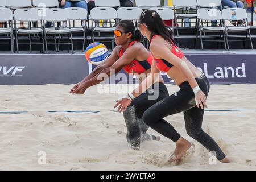
{"type": "Polygon", "coordinates": [[[103,63],[108,58],[108,55],[108,48],[99,42],[91,43],[85,50],[86,59],[94,65],[103,63]]]}

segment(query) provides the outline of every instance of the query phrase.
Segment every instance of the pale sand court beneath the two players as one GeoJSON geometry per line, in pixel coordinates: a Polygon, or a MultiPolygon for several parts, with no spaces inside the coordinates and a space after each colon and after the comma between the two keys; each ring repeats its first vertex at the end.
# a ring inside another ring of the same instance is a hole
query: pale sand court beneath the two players
{"type": "MultiPolygon", "coordinates": [[[[186,133],[183,113],[166,117],[195,144],[176,166],[167,162],[175,143],[162,135],[140,151],[130,149],[123,115],[113,111],[123,94],[100,94],[97,86],[69,94],[72,87],[0,86],[0,169],[256,170],[256,85],[210,85],[203,129],[232,163],[209,163],[209,152],[186,133]]],[[[170,94],[179,89],[167,88],[170,94]]]]}

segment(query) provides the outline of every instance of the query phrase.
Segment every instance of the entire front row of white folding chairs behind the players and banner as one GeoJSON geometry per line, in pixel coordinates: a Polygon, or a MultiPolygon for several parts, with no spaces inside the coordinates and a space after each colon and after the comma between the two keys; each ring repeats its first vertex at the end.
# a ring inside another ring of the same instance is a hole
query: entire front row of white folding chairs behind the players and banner
{"type": "MultiPolygon", "coordinates": [[[[174,19],[174,10],[168,9],[168,8],[161,8],[161,7],[154,7],[152,10],[155,10],[159,13],[159,15],[162,17],[163,20],[171,20],[174,19]]],[[[97,22],[98,20],[111,20],[115,19],[116,22],[118,22],[119,19],[123,20],[138,20],[139,16],[142,13],[142,9],[139,9],[138,7],[121,7],[118,10],[115,10],[111,7],[96,7],[92,9],[91,11],[91,18],[92,21],[97,22]]],[[[218,31],[225,31],[226,36],[228,36],[227,32],[229,31],[248,31],[250,35],[250,27],[249,26],[243,26],[243,27],[227,27],[225,25],[224,20],[234,20],[234,16],[232,16],[232,13],[236,14],[236,20],[238,19],[247,19],[247,14],[244,9],[225,9],[220,10],[217,9],[199,9],[197,10],[197,14],[199,14],[198,18],[200,20],[221,20],[223,22],[222,24],[224,27],[205,27],[204,24],[200,24],[199,21],[199,32],[200,32],[200,38],[201,38],[201,45],[203,48],[203,41],[202,41],[202,35],[201,32],[210,31],[210,32],[218,32],[218,31]],[[199,14],[200,13],[200,14],[199,14]],[[208,14],[207,14],[208,13],[208,14]],[[225,30],[224,30],[224,29],[225,30]]],[[[43,9],[43,8],[32,8],[32,9],[18,9],[14,12],[14,21],[15,21],[15,29],[16,34],[39,34],[43,32],[42,36],[44,36],[44,39],[47,42],[46,35],[47,34],[53,34],[53,35],[60,35],[60,34],[70,34],[71,43],[72,43],[72,31],[82,31],[84,32],[84,41],[83,41],[83,49],[85,46],[85,38],[86,38],[86,26],[85,27],[69,27],[69,28],[31,28],[28,30],[18,29],[16,24],[16,21],[24,21],[24,22],[36,22],[36,21],[43,21],[45,22],[64,22],[67,20],[86,20],[86,14],[87,11],[85,9],[81,8],[69,8],[69,9],[43,9]]],[[[10,9],[1,8],[0,9],[0,22],[7,22],[9,21],[12,23],[13,21],[13,15],[10,9]]],[[[173,22],[173,21],[172,21],[173,22]]],[[[43,24],[44,24],[43,23],[43,24]]],[[[69,24],[71,24],[69,22],[69,24]]],[[[94,41],[94,33],[95,32],[112,32],[114,31],[115,27],[99,27],[97,26],[97,23],[95,24],[96,27],[92,27],[92,38],[94,41]]],[[[10,26],[9,28],[0,28],[0,34],[12,34],[12,28],[13,26],[10,26]]],[[[172,24],[172,29],[174,28],[172,24]]],[[[198,32],[198,31],[197,31],[198,32]]],[[[16,35],[16,44],[17,44],[17,50],[18,50],[18,36],[16,35]]],[[[104,38],[104,37],[99,37],[104,38]]],[[[113,37],[114,38],[114,37],[113,37]]],[[[104,38],[105,39],[105,38],[104,38]]],[[[13,40],[13,39],[12,39],[13,40]]],[[[250,36],[251,41],[251,36],[250,36]]],[[[252,43],[251,43],[252,44],[252,43]]],[[[13,45],[13,43],[12,43],[13,45]]],[[[44,45],[44,44],[43,44],[44,45]]],[[[56,45],[56,39],[55,39],[55,45],[56,45]]],[[[59,45],[59,43],[58,43],[59,45]]],[[[30,43],[31,46],[31,43],[30,43]]],[[[253,46],[252,46],[253,47],[253,46]]],[[[47,43],[46,43],[46,49],[47,49],[47,43]]],[[[13,46],[12,46],[13,50],[13,46]]],[[[73,50],[73,46],[72,46],[73,50]]]]}

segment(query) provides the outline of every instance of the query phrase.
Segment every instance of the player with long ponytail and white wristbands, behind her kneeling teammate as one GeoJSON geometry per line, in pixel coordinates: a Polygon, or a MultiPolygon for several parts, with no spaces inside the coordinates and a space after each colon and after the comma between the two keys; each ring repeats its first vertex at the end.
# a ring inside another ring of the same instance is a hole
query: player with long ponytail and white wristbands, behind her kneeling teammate
{"type": "MultiPolygon", "coordinates": [[[[125,111],[126,107],[143,93],[159,76],[159,72],[167,72],[180,87],[180,91],[164,98],[147,109],[143,114],[146,122],[158,133],[176,143],[170,162],[177,162],[191,147],[188,140],[180,136],[174,127],[163,118],[183,111],[185,128],[192,138],[200,142],[209,151],[214,152],[221,162],[229,162],[218,144],[202,129],[204,107],[209,92],[209,81],[180,51],[172,40],[172,31],[166,27],[160,15],[154,10],[145,10],[139,19],[142,35],[150,41],[150,50],[155,60],[152,63],[151,74],[127,96],[119,99],[115,107],[125,111]]],[[[213,153],[213,154],[214,154],[213,153]]]]}

